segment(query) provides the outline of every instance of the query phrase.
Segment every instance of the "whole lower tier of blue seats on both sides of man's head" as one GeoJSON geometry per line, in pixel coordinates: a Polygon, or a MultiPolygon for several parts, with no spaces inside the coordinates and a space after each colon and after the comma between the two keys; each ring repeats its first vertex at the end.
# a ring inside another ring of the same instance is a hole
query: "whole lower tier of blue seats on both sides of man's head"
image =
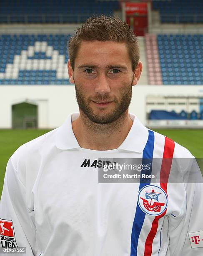
{"type": "MultiPolygon", "coordinates": [[[[0,35],[0,84],[70,84],[70,34],[0,35]]],[[[203,35],[145,35],[149,84],[203,84],[203,35]]]]}

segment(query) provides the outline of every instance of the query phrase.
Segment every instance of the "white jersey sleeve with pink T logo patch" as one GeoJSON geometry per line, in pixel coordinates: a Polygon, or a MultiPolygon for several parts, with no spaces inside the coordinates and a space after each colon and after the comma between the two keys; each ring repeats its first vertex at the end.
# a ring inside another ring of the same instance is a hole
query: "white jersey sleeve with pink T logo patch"
{"type": "Polygon", "coordinates": [[[203,255],[203,179],[196,160],[193,158],[191,162],[188,171],[183,174],[187,177],[187,182],[180,184],[183,187],[181,192],[183,200],[179,207],[179,216],[169,217],[169,241],[170,253],[172,253],[170,255],[173,256],[203,255]],[[192,178],[193,181],[190,180],[192,178]]]}

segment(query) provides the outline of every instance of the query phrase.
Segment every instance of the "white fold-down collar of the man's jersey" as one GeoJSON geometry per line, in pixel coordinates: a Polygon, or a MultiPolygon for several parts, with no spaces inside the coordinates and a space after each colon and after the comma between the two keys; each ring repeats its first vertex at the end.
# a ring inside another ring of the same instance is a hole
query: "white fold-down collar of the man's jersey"
{"type": "MultiPolygon", "coordinates": [[[[148,140],[148,128],[146,128],[134,114],[129,113],[129,115],[133,120],[133,125],[128,136],[118,149],[141,153],[148,140]]],[[[78,116],[79,113],[70,114],[65,123],[58,128],[56,133],[57,148],[64,150],[80,148],[72,129],[72,121],[78,118],[78,116]]]]}

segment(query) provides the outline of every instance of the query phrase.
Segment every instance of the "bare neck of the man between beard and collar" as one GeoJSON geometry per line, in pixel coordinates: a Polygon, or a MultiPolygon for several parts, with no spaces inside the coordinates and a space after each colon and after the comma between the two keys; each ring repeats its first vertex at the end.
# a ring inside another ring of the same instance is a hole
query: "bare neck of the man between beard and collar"
{"type": "Polygon", "coordinates": [[[72,122],[73,133],[81,148],[111,150],[118,148],[128,136],[133,121],[124,113],[110,124],[98,124],[81,115],[72,122]]]}

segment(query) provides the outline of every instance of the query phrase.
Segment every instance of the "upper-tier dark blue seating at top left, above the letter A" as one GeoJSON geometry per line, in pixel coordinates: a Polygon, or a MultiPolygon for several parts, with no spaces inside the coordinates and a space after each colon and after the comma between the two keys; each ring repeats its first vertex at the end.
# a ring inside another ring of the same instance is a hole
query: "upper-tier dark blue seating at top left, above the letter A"
{"type": "Polygon", "coordinates": [[[119,1],[5,0],[1,3],[0,23],[82,23],[92,14],[112,14],[119,1]]]}

